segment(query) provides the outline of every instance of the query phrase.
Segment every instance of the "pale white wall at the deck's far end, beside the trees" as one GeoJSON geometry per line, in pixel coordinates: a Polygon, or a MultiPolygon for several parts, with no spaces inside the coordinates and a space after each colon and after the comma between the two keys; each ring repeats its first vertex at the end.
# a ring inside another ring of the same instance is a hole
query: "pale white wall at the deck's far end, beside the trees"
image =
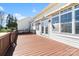
{"type": "Polygon", "coordinates": [[[18,30],[29,31],[30,30],[30,26],[31,26],[31,21],[32,21],[31,17],[27,17],[27,18],[24,18],[22,20],[18,20],[17,21],[18,30]]]}

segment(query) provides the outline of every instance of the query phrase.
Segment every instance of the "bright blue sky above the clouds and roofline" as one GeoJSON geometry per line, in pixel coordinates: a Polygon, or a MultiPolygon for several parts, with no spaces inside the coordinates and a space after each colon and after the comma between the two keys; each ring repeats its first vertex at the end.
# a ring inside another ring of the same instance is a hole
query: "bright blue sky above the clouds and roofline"
{"type": "Polygon", "coordinates": [[[0,3],[0,10],[21,19],[27,16],[35,16],[47,6],[48,3],[0,3]]]}

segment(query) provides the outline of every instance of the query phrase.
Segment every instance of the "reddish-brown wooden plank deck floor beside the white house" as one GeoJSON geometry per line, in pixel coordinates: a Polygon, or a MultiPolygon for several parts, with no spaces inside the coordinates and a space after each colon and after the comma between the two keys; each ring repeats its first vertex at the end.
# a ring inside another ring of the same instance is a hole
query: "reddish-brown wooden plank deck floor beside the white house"
{"type": "MultiPolygon", "coordinates": [[[[10,51],[10,50],[9,50],[10,51]]],[[[19,35],[13,56],[72,56],[79,49],[33,34],[19,35]]]]}

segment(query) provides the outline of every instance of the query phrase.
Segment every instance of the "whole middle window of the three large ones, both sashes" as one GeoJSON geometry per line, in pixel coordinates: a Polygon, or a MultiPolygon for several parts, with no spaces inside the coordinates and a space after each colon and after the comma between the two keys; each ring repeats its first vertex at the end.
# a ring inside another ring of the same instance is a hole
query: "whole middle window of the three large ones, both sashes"
{"type": "Polygon", "coordinates": [[[61,32],[72,33],[72,12],[61,15],[61,32]]]}

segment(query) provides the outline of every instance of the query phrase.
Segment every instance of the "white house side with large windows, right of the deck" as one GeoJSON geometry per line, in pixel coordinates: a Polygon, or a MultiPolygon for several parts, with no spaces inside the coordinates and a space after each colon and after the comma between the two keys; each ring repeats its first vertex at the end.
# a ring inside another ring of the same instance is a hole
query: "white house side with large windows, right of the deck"
{"type": "Polygon", "coordinates": [[[41,17],[35,18],[36,20],[37,19],[40,20],[40,24],[41,24],[41,26],[38,26],[39,30],[36,29],[36,34],[79,48],[79,40],[78,40],[79,39],[78,37],[79,18],[75,16],[76,14],[77,16],[79,15],[78,14],[79,6],[76,7],[76,5],[78,4],[77,3],[71,3],[71,4],[60,3],[49,8],[47,11],[43,12],[43,14],[41,13],[47,19],[43,18],[43,16],[42,18],[41,17]],[[57,16],[59,17],[58,22],[56,21],[57,16]],[[64,21],[63,21],[64,19],[63,17],[66,18],[64,21]],[[48,25],[47,25],[48,34],[45,33],[45,30],[46,30],[45,27],[44,27],[44,33],[40,31],[40,29],[42,29],[42,22],[47,24],[46,20],[48,20],[48,25]],[[54,24],[52,22],[54,22],[54,24]],[[55,29],[52,25],[55,26],[55,29]]]}

